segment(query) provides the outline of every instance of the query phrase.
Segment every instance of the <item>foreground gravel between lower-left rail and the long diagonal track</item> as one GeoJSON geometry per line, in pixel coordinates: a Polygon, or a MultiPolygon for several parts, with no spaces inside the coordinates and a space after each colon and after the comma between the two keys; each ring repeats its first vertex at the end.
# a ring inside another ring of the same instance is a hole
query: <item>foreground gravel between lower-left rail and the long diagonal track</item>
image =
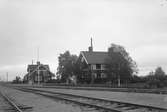
{"type": "MultiPolygon", "coordinates": [[[[43,96],[26,93],[11,88],[1,87],[0,90],[7,93],[17,104],[33,107],[26,112],[97,112],[92,108],[80,107],[75,104],[67,103],[65,101],[53,100],[43,96]]],[[[0,103],[0,108],[3,106],[0,103]]],[[[0,112],[3,112],[0,110],[0,112]]]]}

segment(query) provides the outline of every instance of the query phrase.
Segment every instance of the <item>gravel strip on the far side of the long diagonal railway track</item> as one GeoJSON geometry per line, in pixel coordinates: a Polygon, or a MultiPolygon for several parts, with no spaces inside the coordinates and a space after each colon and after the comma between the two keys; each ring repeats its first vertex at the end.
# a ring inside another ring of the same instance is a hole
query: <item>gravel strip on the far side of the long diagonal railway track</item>
{"type": "Polygon", "coordinates": [[[150,94],[150,93],[128,93],[128,92],[111,92],[111,91],[90,91],[90,90],[71,90],[71,89],[55,89],[40,88],[55,92],[71,93],[95,98],[103,98],[108,100],[124,101],[129,103],[151,105],[167,109],[167,95],[150,94]]]}

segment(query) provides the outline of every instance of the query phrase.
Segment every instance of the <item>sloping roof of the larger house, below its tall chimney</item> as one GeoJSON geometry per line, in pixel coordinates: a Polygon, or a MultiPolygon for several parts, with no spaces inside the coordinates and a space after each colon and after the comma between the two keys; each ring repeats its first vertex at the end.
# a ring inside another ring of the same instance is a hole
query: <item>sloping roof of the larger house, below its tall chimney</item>
{"type": "Polygon", "coordinates": [[[81,54],[88,64],[105,64],[108,57],[107,52],[82,51],[81,54]]]}

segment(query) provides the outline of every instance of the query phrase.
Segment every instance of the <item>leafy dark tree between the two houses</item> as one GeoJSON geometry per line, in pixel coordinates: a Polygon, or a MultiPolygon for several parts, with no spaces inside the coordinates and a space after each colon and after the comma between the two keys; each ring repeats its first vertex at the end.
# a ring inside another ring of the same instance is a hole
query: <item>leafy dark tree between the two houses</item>
{"type": "Polygon", "coordinates": [[[58,57],[59,66],[57,68],[57,75],[60,77],[61,82],[66,82],[69,77],[76,73],[76,61],[78,57],[71,55],[69,51],[60,54],[58,57]]]}

